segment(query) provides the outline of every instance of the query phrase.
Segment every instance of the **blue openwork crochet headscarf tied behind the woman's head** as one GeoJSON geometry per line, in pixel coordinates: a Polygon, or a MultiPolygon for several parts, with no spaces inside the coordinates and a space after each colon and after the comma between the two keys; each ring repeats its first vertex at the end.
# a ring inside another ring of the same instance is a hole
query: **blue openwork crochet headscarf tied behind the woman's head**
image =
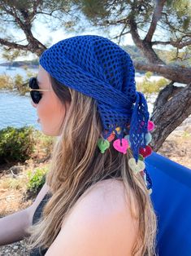
{"type": "Polygon", "coordinates": [[[77,36],[44,51],[40,64],[65,86],[96,99],[102,138],[115,133],[123,143],[124,135],[126,139],[128,135],[137,163],[139,149],[147,144],[149,112],[144,95],[136,90],[135,70],[128,53],[107,38],[77,36]]]}

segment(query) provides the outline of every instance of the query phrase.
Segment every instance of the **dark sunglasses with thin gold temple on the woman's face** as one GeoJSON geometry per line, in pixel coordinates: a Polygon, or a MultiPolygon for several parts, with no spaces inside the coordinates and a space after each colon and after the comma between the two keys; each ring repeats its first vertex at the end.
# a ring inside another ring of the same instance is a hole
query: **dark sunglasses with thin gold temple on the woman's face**
{"type": "Polygon", "coordinates": [[[50,91],[50,90],[43,90],[39,89],[38,83],[37,83],[37,77],[31,77],[29,79],[29,91],[31,98],[33,99],[34,104],[38,104],[41,100],[42,94],[41,91],[50,91]]]}

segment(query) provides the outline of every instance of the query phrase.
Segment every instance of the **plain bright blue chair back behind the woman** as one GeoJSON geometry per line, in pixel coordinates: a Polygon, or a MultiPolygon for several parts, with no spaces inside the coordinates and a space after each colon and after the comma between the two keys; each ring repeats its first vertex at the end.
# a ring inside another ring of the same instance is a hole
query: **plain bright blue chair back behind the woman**
{"type": "Polygon", "coordinates": [[[158,217],[158,256],[191,255],[191,170],[153,152],[145,158],[158,217]]]}

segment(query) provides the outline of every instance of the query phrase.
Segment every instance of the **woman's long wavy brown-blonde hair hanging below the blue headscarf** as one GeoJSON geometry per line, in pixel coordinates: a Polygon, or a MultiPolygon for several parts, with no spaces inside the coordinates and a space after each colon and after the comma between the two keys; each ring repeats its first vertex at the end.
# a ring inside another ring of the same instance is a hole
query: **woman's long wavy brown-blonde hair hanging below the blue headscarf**
{"type": "Polygon", "coordinates": [[[111,176],[123,181],[132,217],[139,223],[132,255],[156,255],[157,219],[141,174],[133,174],[128,167],[131,150],[124,155],[110,147],[102,154],[97,145],[102,122],[96,100],[64,86],[54,77],[50,77],[50,82],[60,101],[69,102],[70,108],[54,143],[46,174],[51,197],[40,221],[28,229],[28,248],[50,247],[79,197],[93,184],[111,176]]]}

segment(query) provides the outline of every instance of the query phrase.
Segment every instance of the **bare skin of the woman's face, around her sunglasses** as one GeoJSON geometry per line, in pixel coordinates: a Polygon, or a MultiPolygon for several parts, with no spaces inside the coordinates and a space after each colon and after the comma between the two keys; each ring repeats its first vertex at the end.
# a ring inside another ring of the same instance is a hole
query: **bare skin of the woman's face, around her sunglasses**
{"type": "MultiPolygon", "coordinates": [[[[59,136],[59,127],[65,118],[66,108],[54,93],[49,74],[41,65],[39,65],[37,81],[39,89],[50,90],[41,92],[42,97],[38,104],[34,104],[31,100],[31,104],[37,109],[41,131],[45,135],[59,136]]],[[[67,108],[69,108],[69,104],[67,104],[67,108]]]]}

